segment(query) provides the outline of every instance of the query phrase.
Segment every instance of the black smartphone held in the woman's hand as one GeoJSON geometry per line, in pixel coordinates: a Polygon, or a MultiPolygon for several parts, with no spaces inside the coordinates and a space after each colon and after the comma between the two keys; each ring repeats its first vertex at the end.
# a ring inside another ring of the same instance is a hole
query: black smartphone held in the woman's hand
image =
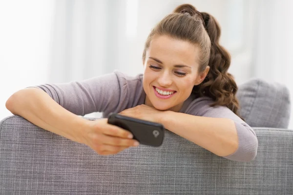
{"type": "Polygon", "coordinates": [[[163,143],[165,128],[160,123],[126,117],[116,113],[109,114],[108,123],[130,131],[133,138],[141,144],[157,147],[163,143]]]}

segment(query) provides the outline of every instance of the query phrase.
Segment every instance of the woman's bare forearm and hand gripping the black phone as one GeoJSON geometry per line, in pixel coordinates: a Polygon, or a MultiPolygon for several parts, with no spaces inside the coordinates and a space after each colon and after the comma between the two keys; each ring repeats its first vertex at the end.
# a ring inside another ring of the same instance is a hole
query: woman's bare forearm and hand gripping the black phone
{"type": "Polygon", "coordinates": [[[41,89],[26,88],[14,93],[6,108],[14,115],[73,141],[84,143],[100,155],[116,154],[135,142],[132,134],[107,119],[86,120],[60,106],[41,89]]]}

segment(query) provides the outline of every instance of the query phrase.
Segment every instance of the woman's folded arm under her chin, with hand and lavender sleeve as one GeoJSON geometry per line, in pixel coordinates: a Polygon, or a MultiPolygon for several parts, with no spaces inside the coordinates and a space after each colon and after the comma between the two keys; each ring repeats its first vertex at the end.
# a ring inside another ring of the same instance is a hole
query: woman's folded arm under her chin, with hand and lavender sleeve
{"type": "Polygon", "coordinates": [[[162,123],[166,129],[210,152],[235,161],[251,161],[258,140],[253,129],[226,106],[211,107],[210,98],[197,98],[183,112],[162,111],[145,104],[120,114],[162,123]]]}

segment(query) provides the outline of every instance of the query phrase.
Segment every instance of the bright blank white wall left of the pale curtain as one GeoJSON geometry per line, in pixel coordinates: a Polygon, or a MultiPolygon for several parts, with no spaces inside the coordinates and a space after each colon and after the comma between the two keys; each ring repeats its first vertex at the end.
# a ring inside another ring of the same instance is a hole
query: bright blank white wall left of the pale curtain
{"type": "Polygon", "coordinates": [[[0,119],[14,92],[47,81],[54,2],[0,1],[0,119]]]}

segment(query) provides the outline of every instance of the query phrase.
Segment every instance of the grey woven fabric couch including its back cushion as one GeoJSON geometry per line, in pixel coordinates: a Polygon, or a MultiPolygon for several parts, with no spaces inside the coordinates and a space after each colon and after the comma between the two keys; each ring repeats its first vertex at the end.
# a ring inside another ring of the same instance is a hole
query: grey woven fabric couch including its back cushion
{"type": "Polygon", "coordinates": [[[239,86],[237,97],[258,137],[251,162],[216,156],[169,131],[160,147],[140,145],[100,156],[22,117],[6,117],[0,122],[0,194],[292,195],[287,88],[251,79],[239,86]]]}

